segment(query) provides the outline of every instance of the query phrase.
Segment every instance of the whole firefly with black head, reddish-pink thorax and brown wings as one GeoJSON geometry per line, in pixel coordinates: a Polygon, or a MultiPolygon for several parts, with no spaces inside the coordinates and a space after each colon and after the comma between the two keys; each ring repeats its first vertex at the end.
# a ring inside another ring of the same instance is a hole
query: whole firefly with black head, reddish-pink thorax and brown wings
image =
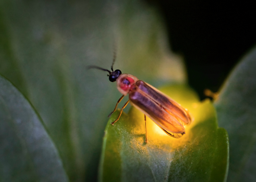
{"type": "Polygon", "coordinates": [[[117,89],[122,94],[114,110],[108,115],[112,115],[120,103],[120,101],[129,94],[129,100],[122,107],[120,114],[111,124],[114,125],[120,119],[124,108],[130,104],[140,110],[144,114],[146,140],[148,142],[148,133],[146,125],[146,116],[154,121],[165,133],[174,138],[180,138],[185,134],[184,125],[191,122],[191,116],[187,109],[172,100],[166,94],[160,92],[150,84],[139,80],[131,74],[122,74],[121,70],[113,70],[114,61],[111,70],[97,66],[88,68],[96,68],[108,72],[110,82],[116,82],[117,89]]]}

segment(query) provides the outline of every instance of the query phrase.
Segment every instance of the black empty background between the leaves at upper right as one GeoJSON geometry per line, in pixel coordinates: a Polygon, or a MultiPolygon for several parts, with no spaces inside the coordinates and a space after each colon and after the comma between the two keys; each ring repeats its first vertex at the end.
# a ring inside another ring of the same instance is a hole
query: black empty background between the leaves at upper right
{"type": "Polygon", "coordinates": [[[184,56],[188,80],[200,98],[216,92],[256,43],[254,2],[148,1],[164,17],[172,50],[184,56]]]}

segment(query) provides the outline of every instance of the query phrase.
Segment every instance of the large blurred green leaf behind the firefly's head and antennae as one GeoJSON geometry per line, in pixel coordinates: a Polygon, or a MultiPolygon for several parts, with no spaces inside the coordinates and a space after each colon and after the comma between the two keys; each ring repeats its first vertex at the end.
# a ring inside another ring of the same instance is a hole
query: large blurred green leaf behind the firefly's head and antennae
{"type": "Polygon", "coordinates": [[[166,37],[140,0],[0,1],[0,73],[42,117],[70,181],[96,181],[106,116],[121,96],[106,72],[86,67],[110,69],[116,40],[114,68],[151,84],[186,82],[166,37]]]}

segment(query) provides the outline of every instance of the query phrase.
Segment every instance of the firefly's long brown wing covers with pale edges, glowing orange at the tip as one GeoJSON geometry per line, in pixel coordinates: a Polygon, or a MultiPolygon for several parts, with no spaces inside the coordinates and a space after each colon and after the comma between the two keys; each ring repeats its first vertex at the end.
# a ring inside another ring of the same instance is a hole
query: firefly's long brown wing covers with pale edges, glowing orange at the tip
{"type": "Polygon", "coordinates": [[[130,91],[129,99],[133,106],[172,137],[182,137],[185,133],[183,125],[191,121],[186,109],[142,80],[136,82],[134,89],[130,91]]]}

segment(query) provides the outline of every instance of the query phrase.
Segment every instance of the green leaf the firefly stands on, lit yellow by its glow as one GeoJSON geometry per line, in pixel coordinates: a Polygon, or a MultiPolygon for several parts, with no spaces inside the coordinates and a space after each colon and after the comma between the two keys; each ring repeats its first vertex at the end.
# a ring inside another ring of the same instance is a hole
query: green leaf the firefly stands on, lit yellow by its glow
{"type": "Polygon", "coordinates": [[[186,86],[161,89],[185,108],[194,121],[180,139],[166,135],[147,119],[148,143],[141,112],[132,108],[115,112],[105,129],[100,162],[100,182],[111,181],[225,181],[228,170],[228,135],[218,128],[216,113],[209,100],[198,102],[186,86]]]}

